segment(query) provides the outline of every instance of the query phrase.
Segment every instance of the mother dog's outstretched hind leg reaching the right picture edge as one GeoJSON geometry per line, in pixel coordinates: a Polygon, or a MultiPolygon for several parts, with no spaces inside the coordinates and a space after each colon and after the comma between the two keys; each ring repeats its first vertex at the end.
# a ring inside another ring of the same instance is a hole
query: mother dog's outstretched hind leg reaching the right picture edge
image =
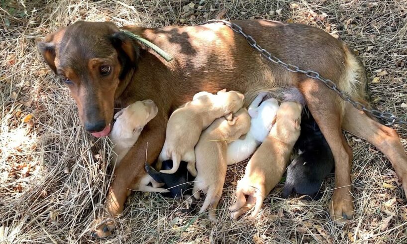
{"type": "Polygon", "coordinates": [[[365,113],[352,106],[346,107],[343,129],[366,139],[390,160],[407,195],[407,155],[398,133],[383,124],[370,119],[365,113]]]}

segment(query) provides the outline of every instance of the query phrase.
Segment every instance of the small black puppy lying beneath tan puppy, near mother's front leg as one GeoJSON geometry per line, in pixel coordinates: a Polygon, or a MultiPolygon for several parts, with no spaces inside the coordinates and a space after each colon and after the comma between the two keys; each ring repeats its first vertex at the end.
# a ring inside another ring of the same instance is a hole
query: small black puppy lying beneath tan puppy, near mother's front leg
{"type": "MultiPolygon", "coordinates": [[[[195,177],[192,176],[187,169],[187,164],[187,162],[181,161],[180,167],[174,174],[161,173],[149,164],[145,164],[145,169],[154,180],[160,183],[165,183],[163,188],[168,189],[170,192],[163,193],[164,197],[172,197],[175,199],[181,199],[181,197],[183,197],[183,199],[190,204],[190,206],[187,206],[187,212],[191,212],[195,205],[195,199],[192,197],[195,177]]],[[[161,169],[172,169],[172,167],[173,161],[171,159],[162,162],[161,169]]]]}

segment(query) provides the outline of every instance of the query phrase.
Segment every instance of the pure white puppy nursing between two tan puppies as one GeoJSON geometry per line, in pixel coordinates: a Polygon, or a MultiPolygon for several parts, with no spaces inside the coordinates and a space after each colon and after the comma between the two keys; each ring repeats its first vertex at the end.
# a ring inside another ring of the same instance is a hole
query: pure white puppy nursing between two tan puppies
{"type": "Polygon", "coordinates": [[[237,139],[227,146],[227,165],[249,158],[270,132],[279,104],[274,98],[262,102],[266,95],[260,93],[249,106],[250,130],[244,139],[237,139]]]}

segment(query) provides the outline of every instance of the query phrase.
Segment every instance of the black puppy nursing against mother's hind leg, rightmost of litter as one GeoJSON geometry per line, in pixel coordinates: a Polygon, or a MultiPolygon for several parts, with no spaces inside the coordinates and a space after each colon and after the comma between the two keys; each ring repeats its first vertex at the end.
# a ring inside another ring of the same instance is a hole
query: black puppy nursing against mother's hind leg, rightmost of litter
{"type": "Polygon", "coordinates": [[[286,184],[281,196],[288,198],[294,191],[319,199],[323,179],[334,168],[334,159],[328,143],[309,111],[301,120],[301,135],[294,148],[299,155],[287,168],[286,184]]]}

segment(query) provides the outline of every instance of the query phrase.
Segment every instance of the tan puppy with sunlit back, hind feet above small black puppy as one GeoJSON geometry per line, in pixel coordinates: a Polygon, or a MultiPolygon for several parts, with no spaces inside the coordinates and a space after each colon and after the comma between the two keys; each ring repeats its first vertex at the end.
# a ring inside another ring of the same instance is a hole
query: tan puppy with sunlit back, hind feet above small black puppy
{"type": "Polygon", "coordinates": [[[161,170],[162,173],[173,174],[180,166],[180,162],[188,162],[188,170],[197,176],[195,169],[195,145],[201,132],[215,119],[231,116],[243,106],[243,94],[235,91],[226,92],[223,89],[217,95],[198,93],[195,100],[186,103],[174,111],[167,123],[167,132],[163,149],[158,162],[172,159],[173,168],[161,170]]]}

